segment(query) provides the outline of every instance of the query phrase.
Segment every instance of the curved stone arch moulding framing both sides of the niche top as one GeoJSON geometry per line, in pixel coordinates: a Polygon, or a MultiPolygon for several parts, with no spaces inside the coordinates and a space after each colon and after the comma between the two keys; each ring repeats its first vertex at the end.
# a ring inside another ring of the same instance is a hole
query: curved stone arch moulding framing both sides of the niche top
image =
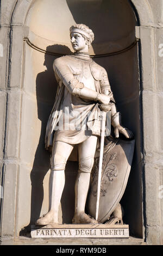
{"type": "MultiPolygon", "coordinates": [[[[1,1],[1,10],[9,15],[1,17],[1,25],[24,25],[29,9],[37,0],[4,0],[1,1]]],[[[148,0],[130,0],[133,3],[140,19],[140,26],[154,24],[153,13],[148,0]]]]}

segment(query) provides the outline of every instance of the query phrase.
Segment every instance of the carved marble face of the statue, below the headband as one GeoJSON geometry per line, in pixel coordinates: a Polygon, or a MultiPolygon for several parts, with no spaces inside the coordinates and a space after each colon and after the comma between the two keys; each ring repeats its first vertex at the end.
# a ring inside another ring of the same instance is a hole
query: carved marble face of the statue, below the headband
{"type": "Polygon", "coordinates": [[[84,51],[87,48],[86,40],[79,33],[71,33],[71,44],[74,51],[84,51]]]}

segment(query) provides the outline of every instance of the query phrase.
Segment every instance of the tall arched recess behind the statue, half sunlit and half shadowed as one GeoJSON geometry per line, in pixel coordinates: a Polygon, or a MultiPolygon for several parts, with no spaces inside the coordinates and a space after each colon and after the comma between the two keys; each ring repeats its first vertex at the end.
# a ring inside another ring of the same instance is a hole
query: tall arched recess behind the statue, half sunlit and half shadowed
{"type": "MultiPolygon", "coordinates": [[[[142,237],[139,60],[134,44],[137,20],[128,0],[35,0],[29,9],[24,41],[20,183],[26,179],[30,212],[20,199],[21,212],[26,214],[19,227],[29,220],[34,224],[48,210],[49,154],[44,138],[57,92],[52,65],[55,58],[73,51],[69,28],[74,23],[84,23],[94,32],[90,54],[108,72],[122,123],[135,135],[133,164],[121,203],[130,235],[142,237]]],[[[70,223],[73,217],[77,170],[76,162],[67,163],[60,223],[70,223]]],[[[21,195],[24,187],[19,189],[21,195]]]]}

